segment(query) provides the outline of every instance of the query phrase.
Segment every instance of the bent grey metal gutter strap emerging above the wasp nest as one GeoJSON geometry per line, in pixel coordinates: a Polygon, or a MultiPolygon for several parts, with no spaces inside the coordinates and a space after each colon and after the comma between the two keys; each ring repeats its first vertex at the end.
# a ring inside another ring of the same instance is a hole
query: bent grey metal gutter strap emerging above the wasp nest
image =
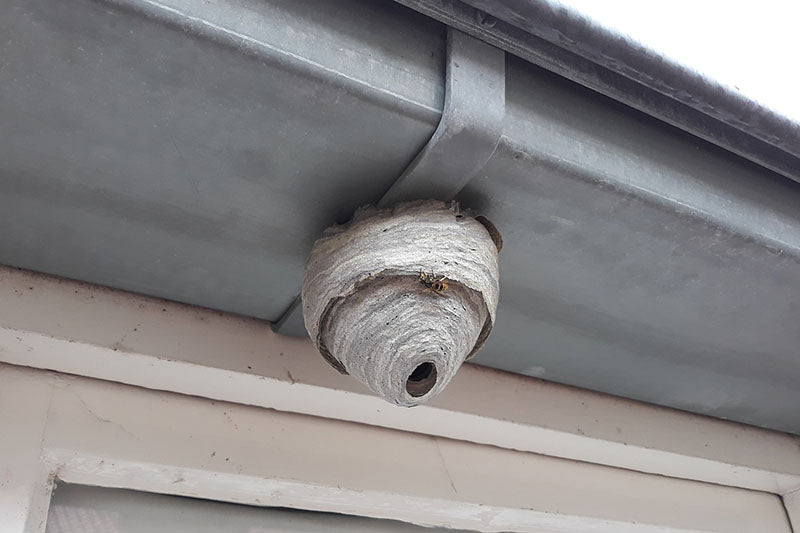
{"type": "MultiPolygon", "coordinates": [[[[505,52],[448,27],[442,118],[428,143],[377,205],[452,200],[497,149],[505,108],[505,52]]],[[[306,336],[300,303],[298,296],[273,326],[277,333],[306,336]]]]}

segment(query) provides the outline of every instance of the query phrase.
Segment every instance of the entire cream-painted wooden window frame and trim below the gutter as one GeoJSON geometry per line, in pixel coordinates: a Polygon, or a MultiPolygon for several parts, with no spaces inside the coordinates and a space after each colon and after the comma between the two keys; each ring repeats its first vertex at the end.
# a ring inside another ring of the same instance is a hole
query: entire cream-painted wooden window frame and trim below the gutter
{"type": "Polygon", "coordinates": [[[800,529],[795,436],[472,365],[397,408],[264,322],[4,267],[0,363],[2,531],[44,531],[54,479],[479,531],[800,529]]]}

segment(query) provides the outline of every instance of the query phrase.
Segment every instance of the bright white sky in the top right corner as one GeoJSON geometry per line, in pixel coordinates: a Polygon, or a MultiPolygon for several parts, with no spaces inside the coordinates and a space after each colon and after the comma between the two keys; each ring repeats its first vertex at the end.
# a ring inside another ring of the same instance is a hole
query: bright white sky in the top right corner
{"type": "Polygon", "coordinates": [[[800,123],[800,1],[556,0],[800,123]]]}

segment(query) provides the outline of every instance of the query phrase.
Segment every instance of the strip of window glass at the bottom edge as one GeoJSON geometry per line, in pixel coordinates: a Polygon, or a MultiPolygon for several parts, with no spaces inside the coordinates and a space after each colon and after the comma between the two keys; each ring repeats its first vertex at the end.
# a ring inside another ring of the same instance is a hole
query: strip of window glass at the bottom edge
{"type": "MultiPolygon", "coordinates": [[[[59,483],[46,533],[423,533],[394,520],[59,483]]],[[[460,530],[463,531],[463,530],[460,530]]]]}

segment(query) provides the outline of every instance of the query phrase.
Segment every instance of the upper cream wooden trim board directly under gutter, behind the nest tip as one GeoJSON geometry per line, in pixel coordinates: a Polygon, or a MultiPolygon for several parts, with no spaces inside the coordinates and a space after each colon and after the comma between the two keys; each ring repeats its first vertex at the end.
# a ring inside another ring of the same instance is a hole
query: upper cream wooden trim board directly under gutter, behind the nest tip
{"type": "Polygon", "coordinates": [[[0,267],[0,361],[240,404],[785,494],[800,439],[465,365],[404,409],[269,325],[0,267]]]}

